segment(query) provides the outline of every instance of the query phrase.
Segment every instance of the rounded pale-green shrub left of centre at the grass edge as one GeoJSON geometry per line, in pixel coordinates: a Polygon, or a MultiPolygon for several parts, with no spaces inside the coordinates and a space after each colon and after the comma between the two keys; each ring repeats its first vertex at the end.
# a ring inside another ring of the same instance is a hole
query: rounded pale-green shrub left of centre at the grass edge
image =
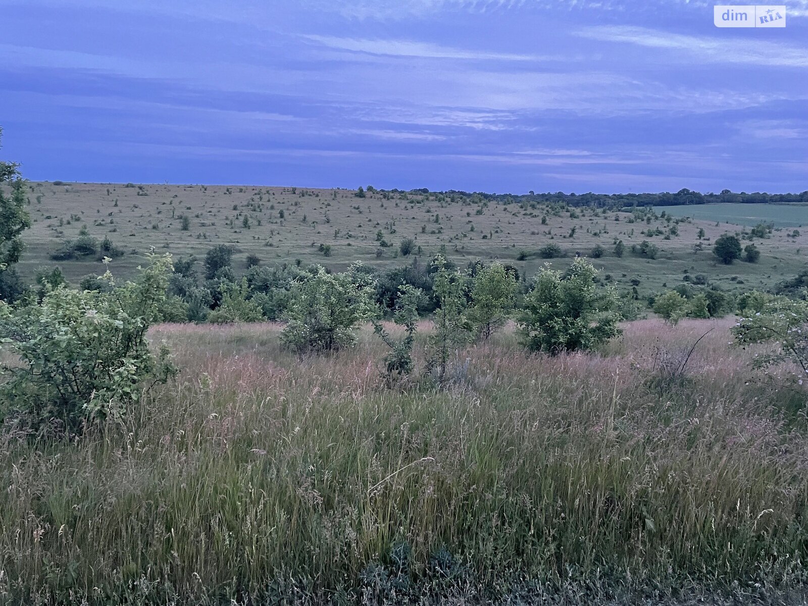
{"type": "Polygon", "coordinates": [[[353,345],[356,327],[373,315],[372,283],[356,278],[351,272],[329,274],[318,265],[295,280],[283,315],[284,346],[302,356],[353,345]]]}

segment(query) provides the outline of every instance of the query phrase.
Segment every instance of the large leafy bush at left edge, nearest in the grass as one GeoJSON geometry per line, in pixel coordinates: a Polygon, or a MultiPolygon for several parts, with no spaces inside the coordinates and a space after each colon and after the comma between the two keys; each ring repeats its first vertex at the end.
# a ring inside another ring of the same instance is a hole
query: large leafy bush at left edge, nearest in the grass
{"type": "Polygon", "coordinates": [[[144,390],[175,374],[168,351],[149,349],[146,331],[162,319],[170,255],[151,255],[134,282],[112,292],[56,288],[40,305],[0,304],[0,343],[22,364],[2,367],[3,418],[68,434],[117,417],[144,390]]]}

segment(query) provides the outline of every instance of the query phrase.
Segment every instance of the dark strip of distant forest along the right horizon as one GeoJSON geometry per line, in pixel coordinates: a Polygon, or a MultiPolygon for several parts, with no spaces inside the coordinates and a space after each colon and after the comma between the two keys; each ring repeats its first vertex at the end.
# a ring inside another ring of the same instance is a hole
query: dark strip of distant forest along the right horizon
{"type": "MultiPolygon", "coordinates": [[[[368,188],[370,191],[372,187],[368,188]]],[[[379,190],[385,191],[385,190],[379,190]]],[[[403,193],[398,189],[388,190],[393,193],[403,193]]],[[[755,191],[747,193],[741,191],[736,193],[728,189],[723,190],[720,194],[707,193],[702,194],[699,191],[692,191],[689,189],[681,189],[675,193],[663,191],[662,193],[643,193],[643,194],[593,194],[591,192],[586,194],[565,194],[563,191],[555,193],[535,193],[531,191],[528,194],[513,195],[513,194],[488,194],[482,191],[468,192],[468,191],[442,191],[435,192],[429,191],[426,187],[423,189],[410,190],[408,193],[412,194],[429,194],[441,193],[444,196],[463,196],[463,197],[477,197],[484,200],[496,200],[503,204],[522,204],[524,202],[541,202],[541,203],[562,203],[570,206],[595,206],[599,208],[625,208],[632,206],[677,206],[680,204],[717,204],[717,203],[740,203],[740,204],[808,204],[808,191],[803,191],[799,194],[768,194],[755,191]]]]}

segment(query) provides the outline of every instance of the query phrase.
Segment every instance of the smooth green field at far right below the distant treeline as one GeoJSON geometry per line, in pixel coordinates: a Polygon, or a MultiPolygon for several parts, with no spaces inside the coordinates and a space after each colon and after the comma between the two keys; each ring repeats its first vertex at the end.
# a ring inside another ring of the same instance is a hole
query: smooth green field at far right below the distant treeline
{"type": "Polygon", "coordinates": [[[772,223],[776,227],[808,225],[808,206],[803,204],[687,204],[659,206],[657,213],[667,211],[674,217],[692,217],[698,221],[718,221],[753,227],[772,223]]]}

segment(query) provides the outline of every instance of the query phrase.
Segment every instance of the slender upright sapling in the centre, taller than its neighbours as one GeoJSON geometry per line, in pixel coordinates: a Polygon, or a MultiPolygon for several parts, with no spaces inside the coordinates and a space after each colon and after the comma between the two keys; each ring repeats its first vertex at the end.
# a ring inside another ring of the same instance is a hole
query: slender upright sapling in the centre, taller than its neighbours
{"type": "Polygon", "coordinates": [[[453,353],[469,340],[469,322],[465,317],[465,278],[460,271],[446,267],[438,255],[432,262],[436,268],[432,292],[438,308],[435,312],[435,332],[427,343],[427,370],[443,383],[448,362],[453,353]]]}

